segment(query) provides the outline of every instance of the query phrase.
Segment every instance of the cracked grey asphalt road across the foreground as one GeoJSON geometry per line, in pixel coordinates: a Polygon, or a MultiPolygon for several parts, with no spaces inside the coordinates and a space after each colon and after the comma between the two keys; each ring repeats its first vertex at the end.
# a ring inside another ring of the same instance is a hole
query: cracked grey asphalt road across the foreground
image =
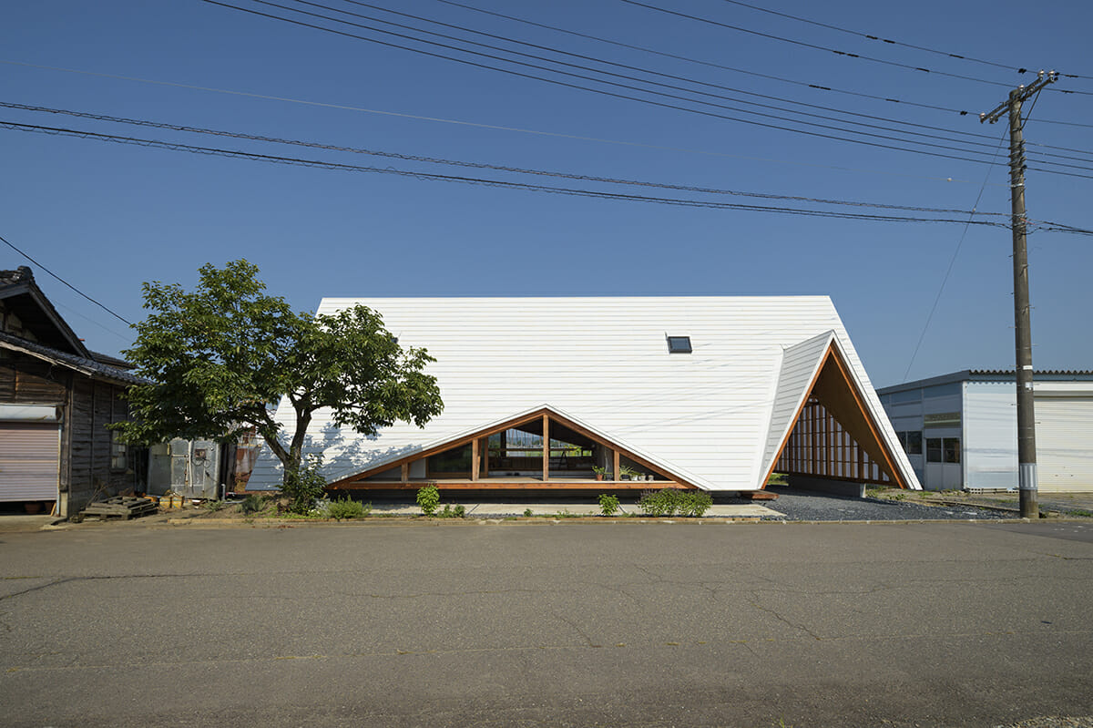
{"type": "Polygon", "coordinates": [[[0,554],[5,726],[1093,716],[1074,521],[163,526],[0,554]]]}

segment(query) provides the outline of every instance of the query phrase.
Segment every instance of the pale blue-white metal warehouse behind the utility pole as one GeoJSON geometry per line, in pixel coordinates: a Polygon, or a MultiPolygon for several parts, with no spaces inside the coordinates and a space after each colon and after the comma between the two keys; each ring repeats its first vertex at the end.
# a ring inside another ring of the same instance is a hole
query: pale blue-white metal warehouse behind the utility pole
{"type": "MultiPolygon", "coordinates": [[[[1093,372],[1035,372],[1044,492],[1093,492],[1093,372]]],[[[1013,372],[968,369],[877,390],[927,490],[1015,490],[1013,372]]]]}

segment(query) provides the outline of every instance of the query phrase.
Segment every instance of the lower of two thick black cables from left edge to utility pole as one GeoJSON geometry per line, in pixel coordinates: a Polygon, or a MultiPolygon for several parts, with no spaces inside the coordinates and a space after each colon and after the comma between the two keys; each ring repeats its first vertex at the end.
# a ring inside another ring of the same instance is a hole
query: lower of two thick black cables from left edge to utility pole
{"type": "MultiPolygon", "coordinates": [[[[244,152],[242,150],[225,150],[211,146],[196,146],[191,144],[181,144],[178,142],[165,142],[154,139],[139,139],[134,137],[120,137],[117,134],[104,134],[94,131],[83,131],[83,130],[66,129],[58,127],[44,127],[39,125],[28,125],[28,124],[16,124],[13,121],[0,121],[0,128],[11,129],[14,131],[30,131],[30,132],[46,133],[52,136],[75,137],[79,139],[92,139],[97,141],[107,141],[120,144],[134,144],[138,146],[149,146],[149,148],[165,149],[171,151],[191,152],[196,154],[205,154],[211,156],[223,156],[230,158],[269,162],[274,164],[287,164],[292,166],[314,167],[319,169],[396,175],[401,177],[414,177],[416,179],[432,180],[432,181],[461,183],[468,185],[479,185],[483,187],[519,189],[519,190],[529,190],[529,191],[546,192],[554,195],[568,195],[576,197],[590,197],[596,199],[620,200],[627,202],[649,202],[656,204],[668,204],[677,207],[707,208],[713,210],[768,212],[768,213],[803,215],[812,218],[833,218],[841,220],[862,220],[862,221],[874,221],[874,222],[916,222],[916,223],[957,223],[957,224],[964,222],[962,220],[952,218],[915,218],[915,216],[888,215],[888,214],[871,214],[861,212],[844,212],[844,211],[833,211],[833,210],[809,210],[802,208],[744,204],[740,202],[721,202],[721,201],[698,200],[691,198],[653,197],[653,196],[631,195],[623,192],[611,192],[603,190],[581,189],[581,188],[551,187],[546,185],[532,185],[528,183],[518,183],[518,181],[509,181],[501,179],[485,179],[477,177],[463,177],[457,175],[442,175],[427,172],[410,172],[406,169],[396,169],[393,167],[367,167],[362,165],[343,164],[339,162],[322,162],[319,160],[277,156],[270,154],[256,154],[254,152],[244,152]]],[[[1009,227],[1009,224],[1003,222],[975,221],[973,224],[983,225],[987,227],[1002,227],[1002,228],[1009,227]]]]}

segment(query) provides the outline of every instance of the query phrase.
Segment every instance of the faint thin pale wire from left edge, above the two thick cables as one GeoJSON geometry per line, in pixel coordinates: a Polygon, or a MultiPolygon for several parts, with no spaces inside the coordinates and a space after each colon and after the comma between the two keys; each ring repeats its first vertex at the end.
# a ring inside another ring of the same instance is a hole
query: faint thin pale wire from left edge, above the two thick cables
{"type": "Polygon", "coordinates": [[[702,154],[702,155],[705,155],[705,156],[722,156],[722,157],[732,158],[732,160],[751,160],[751,161],[755,161],[755,162],[772,162],[772,163],[776,163],[776,164],[791,164],[791,165],[795,165],[795,166],[815,167],[815,168],[822,168],[822,169],[838,169],[838,171],[843,171],[843,172],[855,172],[855,173],[862,173],[862,174],[878,174],[878,175],[888,175],[888,176],[897,176],[897,177],[908,177],[908,178],[913,178],[913,179],[931,179],[931,180],[935,180],[935,181],[969,184],[969,180],[967,180],[967,179],[957,179],[957,178],[954,178],[954,177],[941,177],[941,176],[930,177],[930,176],[922,176],[922,175],[906,175],[906,174],[901,174],[901,173],[894,173],[894,172],[892,172],[890,169],[868,169],[868,168],[860,168],[860,167],[843,167],[843,166],[836,166],[836,165],[813,164],[813,163],[807,163],[807,162],[799,162],[799,161],[795,161],[795,160],[776,160],[776,158],[771,158],[771,157],[755,157],[755,156],[745,156],[745,155],[740,155],[740,154],[729,154],[728,152],[712,152],[712,151],[707,151],[707,150],[687,149],[687,148],[683,148],[683,146],[667,146],[667,145],[662,145],[662,144],[646,144],[646,143],[642,143],[642,142],[622,141],[622,140],[616,140],[616,139],[603,139],[603,138],[600,138],[600,137],[584,137],[584,136],[579,136],[579,134],[567,134],[567,133],[562,133],[562,132],[556,132],[556,131],[542,131],[542,130],[538,130],[538,129],[525,129],[525,128],[520,128],[520,127],[508,127],[508,126],[501,126],[501,125],[494,125],[494,124],[481,124],[481,122],[475,122],[475,121],[465,121],[465,120],[460,120],[460,119],[446,119],[446,118],[443,118],[443,117],[421,116],[421,115],[416,115],[416,114],[403,114],[403,113],[400,113],[400,111],[389,111],[389,110],[383,110],[383,109],[364,108],[362,106],[352,106],[352,105],[346,105],[346,104],[333,104],[333,103],[329,103],[329,102],[307,101],[307,99],[302,99],[302,98],[291,98],[291,97],[287,97],[287,96],[275,96],[275,95],[269,95],[269,94],[258,94],[258,93],[251,93],[251,92],[246,92],[246,91],[233,91],[233,90],[230,90],[230,89],[218,89],[215,86],[201,86],[201,85],[195,85],[195,84],[188,84],[188,83],[178,83],[178,82],[174,82],[174,81],[158,81],[158,80],[155,80],[155,79],[142,79],[142,78],[131,77],[131,75],[119,75],[119,74],[116,74],[116,73],[103,73],[103,72],[98,72],[98,71],[86,71],[86,70],[81,70],[81,69],[62,68],[62,67],[58,67],[58,66],[42,66],[42,64],[38,64],[38,63],[25,63],[25,62],[22,62],[22,61],[12,61],[12,60],[4,60],[4,59],[0,59],[0,63],[8,63],[8,64],[11,64],[11,66],[22,66],[22,67],[26,67],[26,68],[44,69],[44,70],[48,70],[48,71],[60,71],[60,72],[64,72],[64,73],[78,73],[78,74],[81,74],[81,75],[92,75],[92,77],[104,78],[104,79],[116,79],[116,80],[120,80],[120,81],[132,81],[132,82],[136,82],[136,83],[149,83],[149,84],[154,84],[154,85],[172,86],[172,87],[176,87],[176,89],[187,89],[187,90],[191,90],[191,91],[207,91],[207,92],[211,92],[211,93],[220,93],[220,94],[228,94],[228,95],[233,95],[233,96],[242,96],[242,97],[245,97],[245,98],[259,98],[259,99],[263,99],[263,101],[277,101],[277,102],[284,102],[284,103],[290,103],[290,104],[302,104],[302,105],[305,105],[305,106],[315,106],[315,107],[318,107],[318,108],[333,108],[333,109],[346,110],[346,111],[362,111],[362,113],[365,113],[365,114],[376,114],[376,115],[380,115],[380,116],[391,116],[391,117],[402,118],[402,119],[416,119],[416,120],[421,120],[421,121],[433,121],[433,122],[437,122],[437,124],[451,124],[451,125],[456,125],[456,126],[471,127],[471,128],[477,128],[477,129],[491,129],[491,130],[496,130],[496,131],[512,131],[512,132],[516,132],[516,133],[536,134],[536,136],[552,137],[552,138],[557,138],[557,139],[572,139],[572,140],[576,140],[576,141],[589,141],[589,142],[597,142],[597,143],[603,143],[603,144],[618,144],[618,145],[622,145],[622,146],[634,146],[634,148],[637,148],[637,149],[651,149],[651,150],[658,150],[658,151],[665,151],[665,152],[682,152],[682,153],[685,153],[685,154],[702,154]]]}

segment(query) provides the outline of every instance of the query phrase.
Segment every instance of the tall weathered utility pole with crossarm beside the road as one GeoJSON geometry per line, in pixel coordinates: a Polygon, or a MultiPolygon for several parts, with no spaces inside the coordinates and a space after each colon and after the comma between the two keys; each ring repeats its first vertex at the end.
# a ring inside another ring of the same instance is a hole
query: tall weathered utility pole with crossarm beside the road
{"type": "Polygon", "coordinates": [[[979,122],[994,124],[1003,113],[1010,117],[1010,198],[1013,228],[1013,321],[1016,348],[1018,384],[1018,488],[1021,495],[1021,516],[1038,518],[1039,504],[1036,485],[1036,414],[1033,398],[1032,326],[1029,315],[1029,250],[1025,235],[1027,219],[1024,209],[1024,139],[1021,137],[1021,105],[1049,83],[1059,78],[1055,71],[1039,72],[1039,78],[1029,85],[1010,92],[1009,99],[992,111],[979,115],[979,122]]]}

